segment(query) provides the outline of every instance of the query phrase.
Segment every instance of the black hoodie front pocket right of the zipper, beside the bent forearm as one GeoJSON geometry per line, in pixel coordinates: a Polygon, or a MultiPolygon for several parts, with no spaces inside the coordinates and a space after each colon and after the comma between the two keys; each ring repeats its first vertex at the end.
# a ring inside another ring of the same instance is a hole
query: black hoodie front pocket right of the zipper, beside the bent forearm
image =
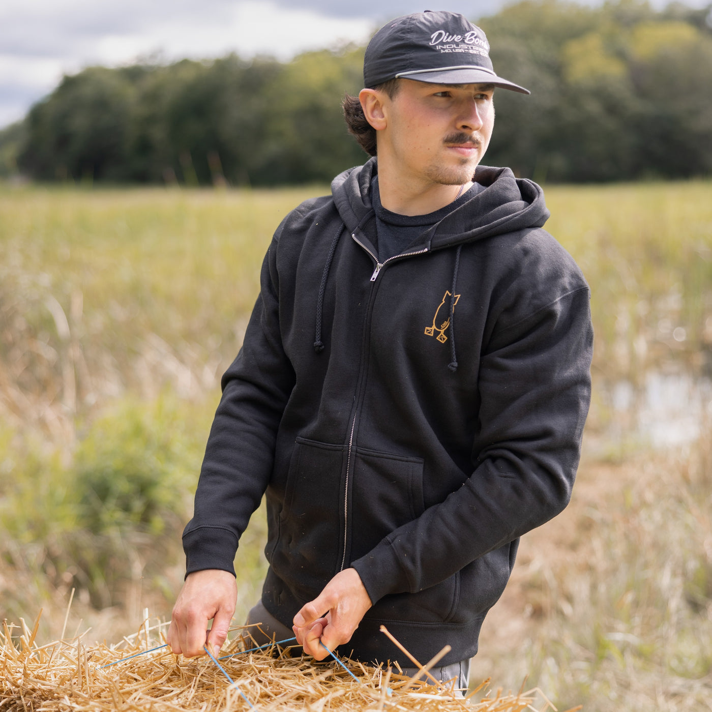
{"type": "Polygon", "coordinates": [[[349,560],[424,511],[423,459],[357,448],[347,508],[349,560]]]}

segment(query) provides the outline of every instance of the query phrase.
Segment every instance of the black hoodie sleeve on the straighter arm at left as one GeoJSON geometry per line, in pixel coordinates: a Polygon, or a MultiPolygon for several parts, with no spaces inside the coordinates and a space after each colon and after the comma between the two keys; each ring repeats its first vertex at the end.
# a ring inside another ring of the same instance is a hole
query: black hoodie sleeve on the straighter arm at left
{"type": "Polygon", "coordinates": [[[222,377],[194,515],[183,533],[186,575],[213,568],[234,575],[239,538],[271,476],[276,432],[295,382],[280,333],[276,252],[281,229],[263,261],[261,293],[243,346],[222,377]]]}

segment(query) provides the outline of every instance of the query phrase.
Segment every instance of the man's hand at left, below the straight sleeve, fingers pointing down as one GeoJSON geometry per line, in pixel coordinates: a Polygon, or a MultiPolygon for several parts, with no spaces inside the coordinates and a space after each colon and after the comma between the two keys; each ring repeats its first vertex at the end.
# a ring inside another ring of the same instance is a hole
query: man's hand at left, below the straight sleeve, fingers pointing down
{"type": "Polygon", "coordinates": [[[167,642],[175,654],[187,658],[212,646],[217,656],[227,637],[237,603],[235,577],[221,569],[194,571],[186,577],[173,607],[167,642]],[[207,630],[208,622],[212,627],[207,630]]]}

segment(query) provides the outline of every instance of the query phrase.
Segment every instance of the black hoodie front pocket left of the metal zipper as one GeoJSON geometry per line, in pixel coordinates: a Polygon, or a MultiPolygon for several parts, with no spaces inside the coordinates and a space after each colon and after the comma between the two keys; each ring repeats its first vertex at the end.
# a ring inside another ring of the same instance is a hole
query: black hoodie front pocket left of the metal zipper
{"type": "Polygon", "coordinates": [[[304,598],[338,571],[344,448],[297,438],[271,555],[274,572],[304,598]]]}

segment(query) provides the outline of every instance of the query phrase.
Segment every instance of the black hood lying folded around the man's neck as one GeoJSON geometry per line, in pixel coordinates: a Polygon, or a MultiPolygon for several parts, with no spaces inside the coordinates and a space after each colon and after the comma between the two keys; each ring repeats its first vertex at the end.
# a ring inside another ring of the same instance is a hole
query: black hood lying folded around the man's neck
{"type": "MultiPolygon", "coordinates": [[[[377,170],[374,157],[337,175],[331,184],[336,209],[350,232],[373,215],[369,192],[377,170]]],[[[548,220],[543,190],[535,182],[515,178],[508,168],[488,166],[478,166],[474,179],[485,189],[426,233],[425,246],[429,250],[542,227],[548,220]]]]}

